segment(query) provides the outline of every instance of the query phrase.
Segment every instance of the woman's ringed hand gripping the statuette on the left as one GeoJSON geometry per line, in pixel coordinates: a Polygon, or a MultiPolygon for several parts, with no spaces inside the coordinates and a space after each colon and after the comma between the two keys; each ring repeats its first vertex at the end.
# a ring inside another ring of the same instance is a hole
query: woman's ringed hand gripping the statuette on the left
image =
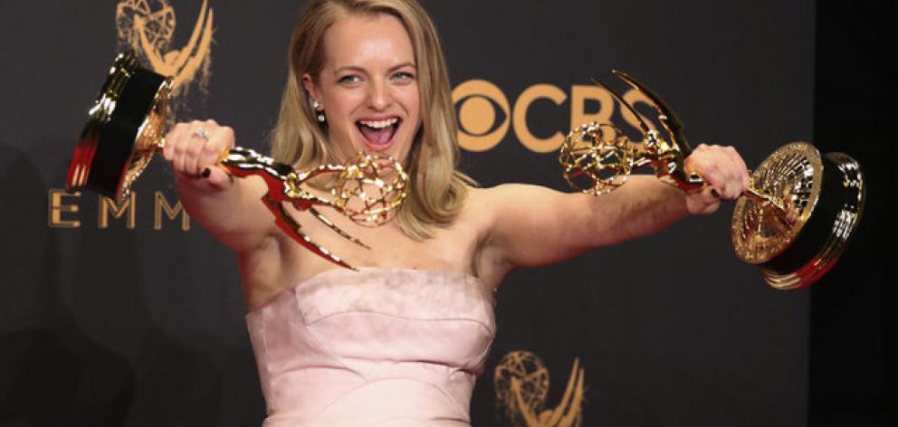
{"type": "Polygon", "coordinates": [[[234,147],[234,129],[219,126],[215,120],[194,120],[177,123],[165,141],[162,156],[171,162],[179,185],[215,192],[234,184],[218,166],[222,153],[234,147]]]}

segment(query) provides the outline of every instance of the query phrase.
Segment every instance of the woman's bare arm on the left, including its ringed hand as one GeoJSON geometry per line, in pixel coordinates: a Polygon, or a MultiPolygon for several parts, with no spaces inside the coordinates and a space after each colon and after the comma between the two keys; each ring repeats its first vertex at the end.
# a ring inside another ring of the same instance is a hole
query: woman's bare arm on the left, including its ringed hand
{"type": "Polygon", "coordinates": [[[234,147],[234,131],[213,120],[178,123],[166,136],[177,192],[188,214],[225,245],[244,253],[272,235],[272,214],[260,201],[267,187],[257,177],[234,178],[216,166],[234,147]]]}

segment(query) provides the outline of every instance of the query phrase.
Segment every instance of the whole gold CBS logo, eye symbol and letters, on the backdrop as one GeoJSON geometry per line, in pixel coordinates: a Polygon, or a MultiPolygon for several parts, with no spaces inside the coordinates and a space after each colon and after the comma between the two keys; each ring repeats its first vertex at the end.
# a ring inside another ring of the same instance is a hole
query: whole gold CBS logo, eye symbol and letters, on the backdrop
{"type": "MultiPolygon", "coordinates": [[[[633,106],[637,103],[652,105],[637,90],[626,91],[623,98],[633,106]]],[[[496,147],[511,128],[524,147],[537,153],[548,153],[561,147],[568,132],[566,129],[564,133],[559,131],[549,138],[540,138],[533,135],[527,126],[527,110],[533,101],[551,100],[559,107],[568,101],[568,93],[548,83],[534,84],[523,90],[511,105],[502,89],[491,81],[464,81],[452,91],[452,100],[458,115],[458,142],[468,151],[487,151],[496,147]],[[502,122],[498,124],[496,109],[502,112],[502,122]]],[[[611,122],[616,104],[607,90],[598,86],[573,85],[570,87],[569,100],[569,128],[591,121],[611,122]],[[598,111],[588,112],[588,101],[597,102],[600,106],[598,111]]],[[[638,122],[629,109],[621,109],[621,117],[630,126],[638,128],[638,122]]],[[[645,121],[651,123],[651,120],[645,121]]]]}

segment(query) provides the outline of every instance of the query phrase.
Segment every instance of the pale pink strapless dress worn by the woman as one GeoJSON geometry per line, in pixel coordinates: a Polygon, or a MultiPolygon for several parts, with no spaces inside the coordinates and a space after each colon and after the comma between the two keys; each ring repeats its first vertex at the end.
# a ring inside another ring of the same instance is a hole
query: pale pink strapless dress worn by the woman
{"type": "Polygon", "coordinates": [[[246,321],[263,427],[469,426],[495,337],[492,290],[432,270],[327,270],[246,321]]]}

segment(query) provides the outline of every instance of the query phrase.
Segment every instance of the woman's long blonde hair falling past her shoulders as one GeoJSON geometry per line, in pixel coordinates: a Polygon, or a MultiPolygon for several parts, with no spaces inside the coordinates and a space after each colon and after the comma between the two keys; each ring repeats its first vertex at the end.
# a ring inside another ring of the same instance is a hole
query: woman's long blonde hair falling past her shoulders
{"type": "Polygon", "coordinates": [[[297,167],[338,161],[327,130],[311,108],[302,76],[317,81],[324,68],[324,33],[350,14],[390,14],[406,27],[415,49],[422,125],[408,154],[408,197],[396,215],[406,235],[431,236],[431,226],[446,226],[461,210],[473,180],[456,170],[457,125],[449,76],[434,23],[416,0],[313,0],[301,15],[290,45],[290,74],[281,113],[272,130],[272,157],[297,167]]]}

